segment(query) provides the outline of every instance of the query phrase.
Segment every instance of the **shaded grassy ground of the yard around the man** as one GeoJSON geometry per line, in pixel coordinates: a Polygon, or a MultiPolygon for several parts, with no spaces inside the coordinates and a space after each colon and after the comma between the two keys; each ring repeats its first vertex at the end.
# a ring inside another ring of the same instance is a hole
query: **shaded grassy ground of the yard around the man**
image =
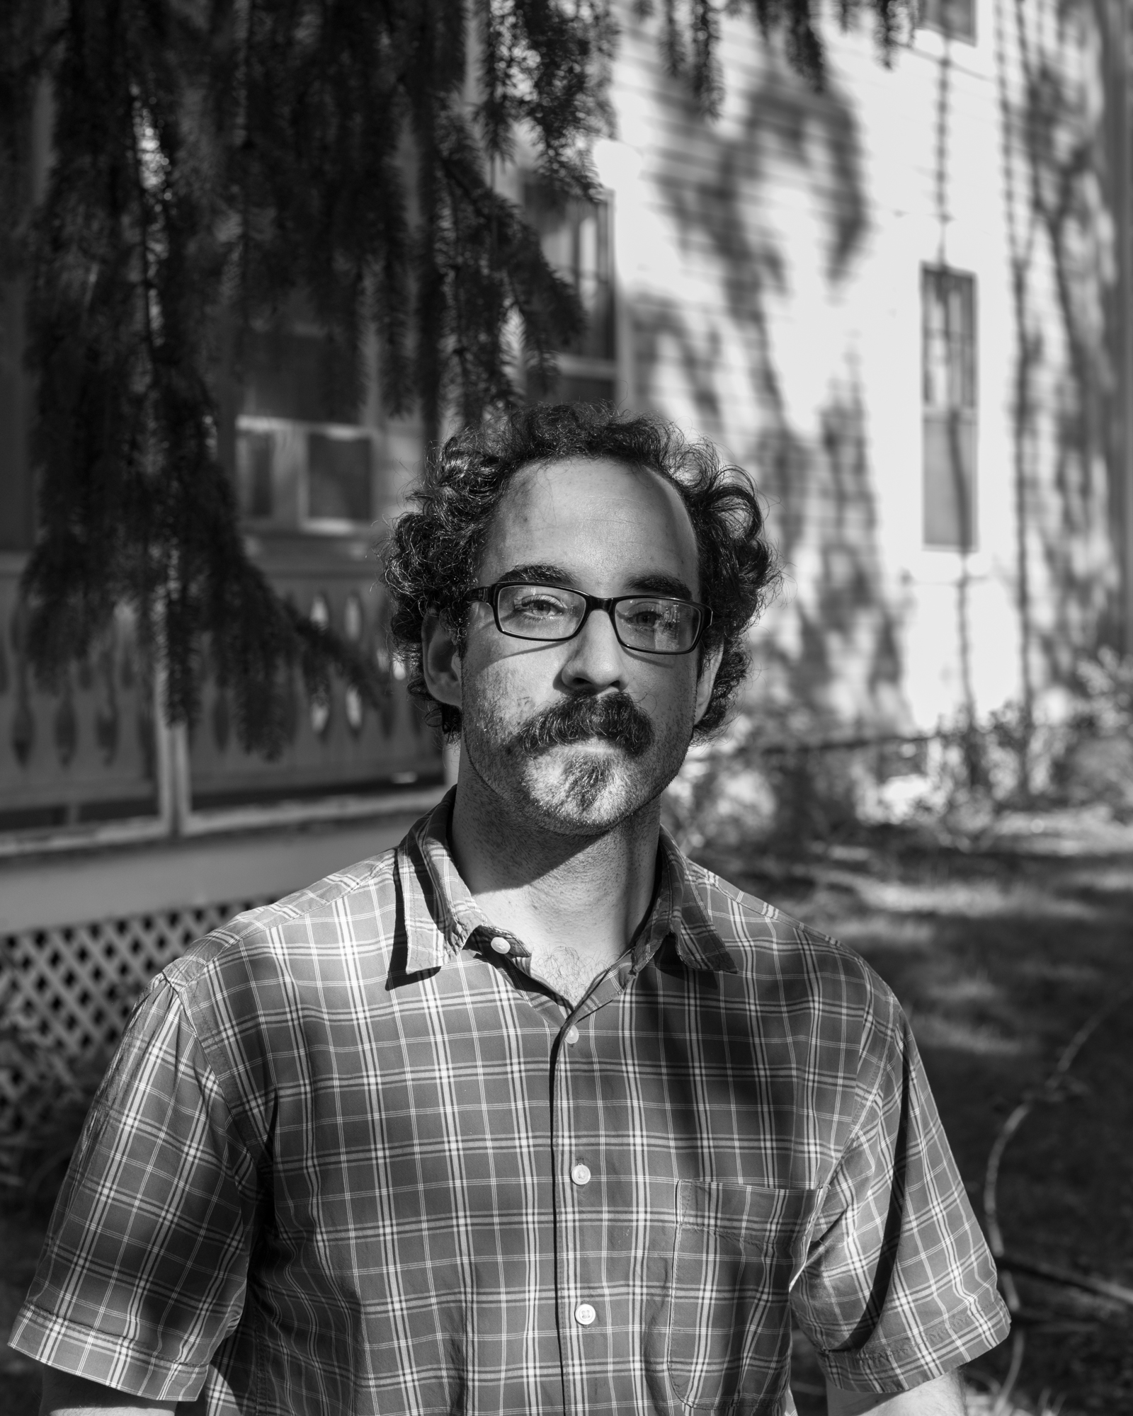
{"type": "MultiPolygon", "coordinates": [[[[1034,1097],[1003,1151],[997,1202],[1018,1262],[1133,1289],[1133,830],[1098,817],[1013,817],[981,841],[891,831],[789,860],[708,858],[735,884],[860,950],[912,1018],[976,1214],[1004,1120],[1034,1097]],[[1106,1011],[1109,1010],[1109,1011],[1106,1011]],[[1096,1020],[1058,1086],[1044,1087],[1096,1020]]],[[[27,1287],[42,1197],[0,1216],[0,1327],[27,1287]]],[[[1021,1366],[998,1416],[1133,1412],[1133,1306],[1014,1276],[1021,1366]]],[[[1011,1345],[967,1372],[990,1413],[1011,1345]]],[[[800,1416],[824,1410],[804,1344],[800,1416]]],[[[37,1381],[0,1354],[0,1416],[33,1416],[37,1381]]]]}

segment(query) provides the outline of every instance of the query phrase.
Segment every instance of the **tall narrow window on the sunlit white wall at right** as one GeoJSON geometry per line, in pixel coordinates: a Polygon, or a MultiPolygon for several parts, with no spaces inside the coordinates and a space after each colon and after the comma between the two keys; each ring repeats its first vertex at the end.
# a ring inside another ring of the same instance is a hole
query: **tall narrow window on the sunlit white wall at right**
{"type": "Polygon", "coordinates": [[[976,280],[925,266],[921,276],[923,537],[976,547],[976,280]]]}

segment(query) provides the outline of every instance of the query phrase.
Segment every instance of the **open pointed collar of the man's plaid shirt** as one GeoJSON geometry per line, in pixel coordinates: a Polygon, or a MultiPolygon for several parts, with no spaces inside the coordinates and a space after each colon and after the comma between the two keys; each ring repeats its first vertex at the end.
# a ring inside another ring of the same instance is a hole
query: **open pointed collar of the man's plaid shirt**
{"type": "MultiPolygon", "coordinates": [[[[511,937],[507,930],[493,927],[452,858],[449,823],[455,799],[456,787],[452,787],[398,847],[408,973],[443,967],[477,930],[511,937]]],[[[640,970],[666,939],[673,937],[681,963],[690,969],[738,973],[691,888],[684,854],[664,827],[659,865],[653,909],[633,944],[633,970],[640,970]]]]}

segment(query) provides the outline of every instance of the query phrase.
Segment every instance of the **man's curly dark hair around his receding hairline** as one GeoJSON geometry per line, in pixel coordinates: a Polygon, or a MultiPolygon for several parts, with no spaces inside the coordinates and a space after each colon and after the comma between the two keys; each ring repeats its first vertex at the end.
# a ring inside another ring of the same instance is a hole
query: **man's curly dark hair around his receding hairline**
{"type": "Polygon", "coordinates": [[[533,404],[491,425],[466,429],[428,459],[412,496],[418,510],[398,518],[382,555],[389,633],[409,671],[409,692],[431,705],[431,716],[439,716],[448,738],[459,735],[460,709],[438,704],[425,687],[425,616],[440,615],[460,641],[467,593],[476,585],[487,530],[508,481],[521,467],[568,457],[650,467],[680,493],[700,551],[700,596],[712,610],[701,663],[724,647],[708,709],[695,729],[695,736],[711,733],[724,722],[748,671],[745,632],[779,582],[759,494],[741,467],[721,463],[710,442],[688,442],[663,418],[630,415],[606,404],[533,404]]]}

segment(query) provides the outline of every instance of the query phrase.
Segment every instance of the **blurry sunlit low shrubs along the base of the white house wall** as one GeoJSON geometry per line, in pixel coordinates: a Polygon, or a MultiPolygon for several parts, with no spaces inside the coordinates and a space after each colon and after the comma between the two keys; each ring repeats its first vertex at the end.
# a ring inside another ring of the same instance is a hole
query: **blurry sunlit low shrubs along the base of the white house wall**
{"type": "Polygon", "coordinates": [[[970,838],[1008,810],[1098,806],[1133,818],[1133,656],[1079,663],[1042,714],[1008,702],[925,738],[831,738],[802,711],[742,714],[666,793],[684,850],[806,850],[877,827],[970,838]]]}

